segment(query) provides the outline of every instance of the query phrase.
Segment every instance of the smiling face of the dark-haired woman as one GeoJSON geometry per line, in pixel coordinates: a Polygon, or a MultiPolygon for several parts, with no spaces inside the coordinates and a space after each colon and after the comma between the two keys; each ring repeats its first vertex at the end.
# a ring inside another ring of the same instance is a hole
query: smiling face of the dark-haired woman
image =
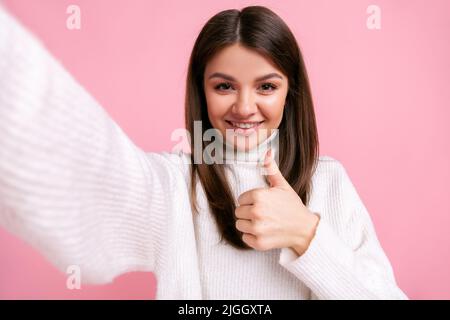
{"type": "Polygon", "coordinates": [[[245,151],[280,125],[288,81],[270,60],[233,44],[207,63],[204,90],[212,126],[236,149],[245,151]]]}

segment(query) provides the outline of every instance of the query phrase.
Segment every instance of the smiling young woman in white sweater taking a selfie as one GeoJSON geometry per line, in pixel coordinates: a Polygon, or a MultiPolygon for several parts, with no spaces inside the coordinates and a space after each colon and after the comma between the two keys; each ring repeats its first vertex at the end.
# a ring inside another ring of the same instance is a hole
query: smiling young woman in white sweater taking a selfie
{"type": "Polygon", "coordinates": [[[158,299],[406,298],[346,170],[318,156],[303,58],[275,13],[206,23],[185,112],[191,137],[200,121],[241,160],[199,163],[210,142],[195,138],[143,152],[1,10],[1,225],[85,283],[154,272],[158,299]]]}

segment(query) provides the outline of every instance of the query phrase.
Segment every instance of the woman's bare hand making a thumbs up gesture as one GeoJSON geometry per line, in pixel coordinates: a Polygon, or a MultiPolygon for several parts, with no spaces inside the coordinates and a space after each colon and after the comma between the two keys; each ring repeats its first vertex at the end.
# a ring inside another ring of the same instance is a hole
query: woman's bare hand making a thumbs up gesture
{"type": "Polygon", "coordinates": [[[269,188],[242,193],[235,210],[242,240],[256,250],[292,248],[301,256],[312,241],[319,216],[312,213],[281,174],[271,149],[265,155],[269,188]]]}

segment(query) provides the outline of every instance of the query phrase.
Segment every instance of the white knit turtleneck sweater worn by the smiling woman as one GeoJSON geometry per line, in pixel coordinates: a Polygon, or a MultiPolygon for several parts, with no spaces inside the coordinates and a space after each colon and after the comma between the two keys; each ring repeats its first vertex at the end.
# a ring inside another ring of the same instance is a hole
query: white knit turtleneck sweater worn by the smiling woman
{"type": "MultiPolygon", "coordinates": [[[[157,299],[406,299],[342,164],[321,156],[308,250],[219,243],[183,153],[143,152],[42,43],[0,8],[0,224],[84,283],[151,271],[157,299]]],[[[267,186],[232,166],[235,197],[267,186]]]]}

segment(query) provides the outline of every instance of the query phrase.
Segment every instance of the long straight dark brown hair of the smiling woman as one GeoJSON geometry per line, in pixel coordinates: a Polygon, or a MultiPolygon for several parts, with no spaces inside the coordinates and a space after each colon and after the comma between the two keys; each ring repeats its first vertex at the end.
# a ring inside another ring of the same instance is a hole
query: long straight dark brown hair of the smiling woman
{"type": "Polygon", "coordinates": [[[215,218],[221,241],[237,249],[249,249],[236,229],[236,200],[228,184],[226,164],[196,164],[194,121],[201,121],[202,134],[212,128],[208,119],[203,76],[206,64],[219,50],[239,43],[272,61],[288,76],[288,93],[279,126],[279,168],[305,205],[311,192],[311,177],[317,165],[319,141],[308,75],[297,41],[284,21],[270,9],[250,6],[214,15],[203,27],[191,53],[186,80],[185,121],[191,138],[191,203],[198,213],[197,176],[215,218]]]}

